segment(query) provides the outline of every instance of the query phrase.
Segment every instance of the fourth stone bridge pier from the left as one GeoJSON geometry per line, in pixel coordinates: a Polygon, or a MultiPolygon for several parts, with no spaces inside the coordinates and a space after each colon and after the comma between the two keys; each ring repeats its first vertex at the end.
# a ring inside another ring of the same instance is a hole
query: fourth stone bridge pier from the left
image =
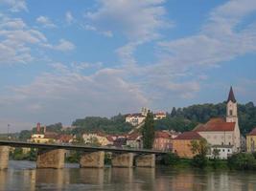
{"type": "Polygon", "coordinates": [[[133,153],[114,154],[112,156],[112,166],[130,168],[133,166],[133,157],[133,153]]]}

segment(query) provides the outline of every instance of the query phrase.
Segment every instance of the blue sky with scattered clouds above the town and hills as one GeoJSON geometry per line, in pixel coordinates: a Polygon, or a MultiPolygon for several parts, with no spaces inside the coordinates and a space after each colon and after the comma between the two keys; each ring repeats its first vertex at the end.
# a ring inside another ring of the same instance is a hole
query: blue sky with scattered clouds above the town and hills
{"type": "Polygon", "coordinates": [[[255,0],[0,0],[0,133],[256,103],[255,0]]]}

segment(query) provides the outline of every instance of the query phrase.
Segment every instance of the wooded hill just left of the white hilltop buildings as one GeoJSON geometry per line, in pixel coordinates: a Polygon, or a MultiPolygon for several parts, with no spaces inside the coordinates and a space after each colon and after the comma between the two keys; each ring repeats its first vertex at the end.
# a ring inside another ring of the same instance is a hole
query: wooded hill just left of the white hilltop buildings
{"type": "Polygon", "coordinates": [[[126,122],[126,117],[119,114],[118,116],[106,117],[85,117],[76,119],[73,124],[76,126],[73,134],[82,134],[87,132],[105,132],[109,134],[125,133],[132,129],[132,126],[126,122]]]}

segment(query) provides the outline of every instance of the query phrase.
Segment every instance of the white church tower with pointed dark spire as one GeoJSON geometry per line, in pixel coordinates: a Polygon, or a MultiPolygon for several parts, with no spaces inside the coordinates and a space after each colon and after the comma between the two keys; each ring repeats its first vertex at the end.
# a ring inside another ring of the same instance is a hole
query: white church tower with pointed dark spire
{"type": "Polygon", "coordinates": [[[230,87],[226,102],[226,122],[238,123],[238,103],[234,96],[232,86],[230,87]]]}

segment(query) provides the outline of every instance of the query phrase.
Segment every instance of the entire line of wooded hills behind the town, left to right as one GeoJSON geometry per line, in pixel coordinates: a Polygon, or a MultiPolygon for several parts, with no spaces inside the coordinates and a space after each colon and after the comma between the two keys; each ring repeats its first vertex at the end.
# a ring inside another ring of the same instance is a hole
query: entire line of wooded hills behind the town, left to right
{"type": "MultiPolygon", "coordinates": [[[[256,127],[256,107],[253,102],[238,104],[239,124],[241,133],[246,135],[252,128],[256,127]]],[[[155,130],[175,130],[177,132],[191,131],[198,123],[205,123],[211,117],[225,117],[226,102],[218,104],[197,104],[184,108],[173,108],[167,113],[167,117],[154,121],[155,130]]],[[[62,124],[56,123],[47,126],[47,131],[81,135],[87,132],[103,132],[105,134],[122,134],[128,133],[132,126],[126,122],[126,116],[119,114],[115,117],[84,117],[73,121],[72,130],[62,130],[62,124]]],[[[42,130],[43,131],[43,130],[42,130]]],[[[24,130],[20,132],[19,138],[30,138],[32,131],[24,130]]]]}

